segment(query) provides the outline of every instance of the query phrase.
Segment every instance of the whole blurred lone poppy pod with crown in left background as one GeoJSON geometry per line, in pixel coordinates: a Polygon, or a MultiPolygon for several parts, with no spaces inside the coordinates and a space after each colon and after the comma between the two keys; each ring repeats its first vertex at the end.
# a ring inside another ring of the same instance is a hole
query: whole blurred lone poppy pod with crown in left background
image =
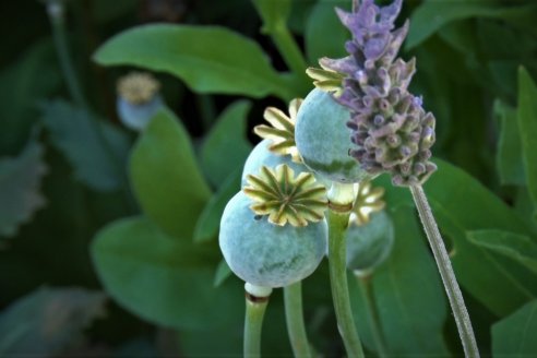
{"type": "Polygon", "coordinates": [[[121,122],[142,131],[163,106],[160,84],[148,73],[133,72],[118,81],[116,107],[121,122]]]}

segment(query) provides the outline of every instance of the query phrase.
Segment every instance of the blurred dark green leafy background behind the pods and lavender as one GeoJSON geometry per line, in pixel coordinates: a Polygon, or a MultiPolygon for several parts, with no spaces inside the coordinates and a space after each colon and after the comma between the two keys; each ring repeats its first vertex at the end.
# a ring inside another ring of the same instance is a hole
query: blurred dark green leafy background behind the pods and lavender
{"type": "MultiPolygon", "coordinates": [[[[44,4],[0,3],[0,355],[240,353],[243,294],[220,261],[219,216],[264,108],[306,96],[306,64],[344,55],[336,5],[350,0],[65,1],[81,104],[44,4]],[[303,69],[279,50],[293,40],[303,69]],[[134,68],[154,72],[169,108],[140,134],[115,110],[116,80],[134,68]]],[[[438,121],[426,191],[480,349],[537,354],[537,3],[411,0],[406,17],[413,92],[438,121]]],[[[387,350],[458,355],[410,199],[375,183],[396,232],[369,283],[387,350]]],[[[374,355],[363,283],[349,279],[374,355]]],[[[342,355],[325,264],[306,279],[305,306],[315,348],[342,355]]],[[[267,355],[290,353],[284,324],[275,293],[267,355]]]]}

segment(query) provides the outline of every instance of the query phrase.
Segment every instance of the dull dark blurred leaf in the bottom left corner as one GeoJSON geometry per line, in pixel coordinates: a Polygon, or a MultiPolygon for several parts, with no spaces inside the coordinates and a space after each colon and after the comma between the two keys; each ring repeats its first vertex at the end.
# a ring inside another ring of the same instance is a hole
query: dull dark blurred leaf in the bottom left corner
{"type": "Polygon", "coordinates": [[[105,299],[82,288],[39,288],[24,296],[0,313],[0,356],[61,355],[104,315],[105,299]]]}

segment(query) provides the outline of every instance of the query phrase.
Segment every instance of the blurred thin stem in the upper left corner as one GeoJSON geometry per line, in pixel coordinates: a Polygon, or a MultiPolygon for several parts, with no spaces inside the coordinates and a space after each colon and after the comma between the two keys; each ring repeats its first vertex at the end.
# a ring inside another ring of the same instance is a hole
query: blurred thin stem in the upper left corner
{"type": "Polygon", "coordinates": [[[73,61],[69,53],[69,46],[65,36],[64,8],[61,1],[49,1],[47,12],[52,25],[52,36],[55,39],[56,51],[60,62],[61,70],[65,77],[69,93],[80,107],[86,108],[87,104],[82,94],[79,79],[74,72],[73,61]]]}

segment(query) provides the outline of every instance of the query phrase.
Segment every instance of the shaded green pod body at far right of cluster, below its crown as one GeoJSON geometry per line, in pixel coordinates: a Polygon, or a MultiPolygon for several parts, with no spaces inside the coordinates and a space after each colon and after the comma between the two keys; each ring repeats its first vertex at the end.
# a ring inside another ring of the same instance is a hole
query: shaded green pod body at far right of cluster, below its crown
{"type": "Polygon", "coordinates": [[[346,235],[347,267],[358,275],[368,275],[382,264],[393,248],[392,218],[384,211],[371,214],[365,225],[350,224],[346,235]]]}

